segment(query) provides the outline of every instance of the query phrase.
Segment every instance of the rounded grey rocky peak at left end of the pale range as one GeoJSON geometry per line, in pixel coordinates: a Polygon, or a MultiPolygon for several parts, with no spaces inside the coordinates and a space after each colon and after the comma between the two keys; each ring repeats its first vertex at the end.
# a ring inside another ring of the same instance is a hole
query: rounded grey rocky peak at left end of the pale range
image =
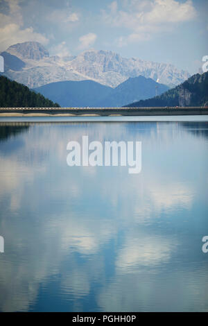
{"type": "Polygon", "coordinates": [[[6,52],[21,59],[42,60],[49,52],[39,42],[24,42],[10,46],[6,52]]]}

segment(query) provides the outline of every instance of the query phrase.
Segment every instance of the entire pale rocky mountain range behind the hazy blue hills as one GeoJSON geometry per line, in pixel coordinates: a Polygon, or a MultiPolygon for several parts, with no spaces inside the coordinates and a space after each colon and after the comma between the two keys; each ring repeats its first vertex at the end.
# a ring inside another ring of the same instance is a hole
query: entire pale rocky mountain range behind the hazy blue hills
{"type": "Polygon", "coordinates": [[[62,80],[94,80],[116,87],[130,77],[139,75],[166,85],[178,85],[189,78],[187,71],[173,65],[149,62],[139,58],[122,58],[112,51],[85,51],[76,57],[50,57],[38,42],[24,42],[10,46],[7,53],[25,63],[21,71],[8,69],[6,76],[28,87],[40,87],[62,80]]]}

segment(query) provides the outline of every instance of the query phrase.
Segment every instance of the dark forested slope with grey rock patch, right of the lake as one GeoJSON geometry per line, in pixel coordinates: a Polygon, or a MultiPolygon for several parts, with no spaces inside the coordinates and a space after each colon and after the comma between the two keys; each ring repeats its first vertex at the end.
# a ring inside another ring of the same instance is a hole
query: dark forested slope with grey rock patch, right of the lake
{"type": "Polygon", "coordinates": [[[208,71],[196,74],[160,96],[125,105],[128,107],[208,106],[208,71]]]}

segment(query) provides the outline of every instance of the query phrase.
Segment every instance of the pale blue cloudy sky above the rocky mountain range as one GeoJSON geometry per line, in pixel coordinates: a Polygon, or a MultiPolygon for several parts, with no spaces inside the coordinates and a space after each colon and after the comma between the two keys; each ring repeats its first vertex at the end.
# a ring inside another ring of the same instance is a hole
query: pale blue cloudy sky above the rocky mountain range
{"type": "Polygon", "coordinates": [[[111,50],[191,74],[208,55],[207,0],[0,0],[0,51],[38,41],[50,54],[111,50]]]}

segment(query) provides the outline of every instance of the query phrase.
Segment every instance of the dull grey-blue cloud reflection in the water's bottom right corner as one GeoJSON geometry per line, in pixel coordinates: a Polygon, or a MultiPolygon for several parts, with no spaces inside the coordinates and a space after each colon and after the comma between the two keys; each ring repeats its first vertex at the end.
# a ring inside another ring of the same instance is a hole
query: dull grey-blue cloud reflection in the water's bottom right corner
{"type": "Polygon", "coordinates": [[[98,293],[101,311],[206,312],[207,268],[188,268],[118,274],[98,293]]]}

